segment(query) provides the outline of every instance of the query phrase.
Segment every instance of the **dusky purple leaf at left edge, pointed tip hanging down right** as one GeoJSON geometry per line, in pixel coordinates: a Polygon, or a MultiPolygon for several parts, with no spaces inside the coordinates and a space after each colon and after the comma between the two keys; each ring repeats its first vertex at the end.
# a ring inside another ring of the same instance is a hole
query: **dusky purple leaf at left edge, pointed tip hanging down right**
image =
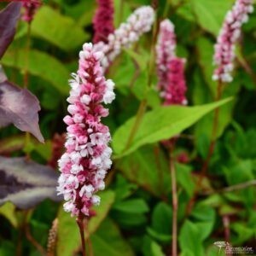
{"type": "Polygon", "coordinates": [[[21,131],[29,131],[44,143],[38,125],[38,98],[29,90],[21,89],[4,79],[0,67],[0,127],[14,124],[21,131]]]}

